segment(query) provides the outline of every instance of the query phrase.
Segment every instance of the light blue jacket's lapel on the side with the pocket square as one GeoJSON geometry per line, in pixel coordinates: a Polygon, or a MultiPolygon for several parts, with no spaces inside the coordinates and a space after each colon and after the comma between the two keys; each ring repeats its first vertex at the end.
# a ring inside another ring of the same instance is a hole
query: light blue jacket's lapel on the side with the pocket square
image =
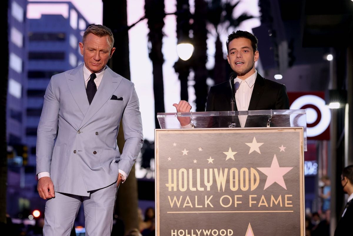
{"type": "Polygon", "coordinates": [[[113,92],[119,86],[121,80],[122,77],[114,73],[109,67],[105,69],[102,81],[94,95],[91,105],[89,105],[84,119],[81,122],[80,128],[82,128],[82,126],[84,126],[99,109],[101,109],[104,103],[112,97],[113,92]]]}

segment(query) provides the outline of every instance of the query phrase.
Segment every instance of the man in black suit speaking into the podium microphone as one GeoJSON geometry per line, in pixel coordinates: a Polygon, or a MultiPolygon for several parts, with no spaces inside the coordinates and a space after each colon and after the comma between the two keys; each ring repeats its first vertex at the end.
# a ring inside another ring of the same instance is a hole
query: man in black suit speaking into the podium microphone
{"type": "MultiPolygon", "coordinates": [[[[235,111],[247,110],[282,110],[289,109],[289,99],[286,86],[273,80],[263,78],[255,69],[255,62],[259,59],[256,36],[247,31],[238,30],[228,35],[227,59],[237,75],[235,84],[235,111]]],[[[210,88],[206,111],[230,111],[231,86],[229,81],[217,84],[210,88]]],[[[191,105],[187,101],[173,104],[177,112],[190,112],[191,105]]],[[[181,127],[190,123],[188,117],[179,119],[181,127]]],[[[261,124],[248,125],[245,119],[240,118],[241,127],[261,127],[261,124]]],[[[265,120],[266,124],[267,120],[265,120]]]]}

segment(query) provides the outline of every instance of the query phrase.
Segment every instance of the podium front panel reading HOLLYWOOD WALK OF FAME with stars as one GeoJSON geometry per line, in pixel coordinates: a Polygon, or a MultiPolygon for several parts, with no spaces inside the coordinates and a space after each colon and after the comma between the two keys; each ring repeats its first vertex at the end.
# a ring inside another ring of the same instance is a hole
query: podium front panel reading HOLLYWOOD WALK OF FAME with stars
{"type": "Polygon", "coordinates": [[[156,129],[156,235],[304,236],[303,139],[303,127],[156,129]]]}

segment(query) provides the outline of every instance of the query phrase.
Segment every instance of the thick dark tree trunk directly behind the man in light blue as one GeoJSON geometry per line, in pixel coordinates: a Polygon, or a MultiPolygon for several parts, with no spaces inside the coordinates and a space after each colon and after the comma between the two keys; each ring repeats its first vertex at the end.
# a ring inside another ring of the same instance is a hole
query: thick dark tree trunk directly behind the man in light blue
{"type": "MultiPolygon", "coordinates": [[[[127,31],[127,11],[126,0],[104,1],[103,0],[103,24],[109,27],[114,35],[114,47],[119,53],[113,54],[109,60],[109,67],[116,73],[130,80],[130,63],[129,63],[129,39],[127,31]],[[118,12],[117,12],[118,11],[118,12]]],[[[124,148],[124,127],[120,122],[118,132],[118,146],[120,153],[124,148]]],[[[135,176],[135,166],[123,184],[120,184],[116,201],[115,212],[118,216],[116,220],[122,220],[124,229],[118,229],[119,225],[113,227],[112,235],[117,235],[117,231],[125,231],[126,234],[131,229],[138,229],[138,190],[137,179],[135,176]]]]}

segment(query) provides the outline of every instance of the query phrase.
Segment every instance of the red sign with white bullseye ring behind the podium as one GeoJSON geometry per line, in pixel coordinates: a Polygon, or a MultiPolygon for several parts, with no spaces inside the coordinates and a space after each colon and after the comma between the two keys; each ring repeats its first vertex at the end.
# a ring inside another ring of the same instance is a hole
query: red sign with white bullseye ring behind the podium
{"type": "Polygon", "coordinates": [[[329,140],[331,111],[324,92],[288,92],[291,110],[306,109],[306,135],[308,139],[329,140]]]}

